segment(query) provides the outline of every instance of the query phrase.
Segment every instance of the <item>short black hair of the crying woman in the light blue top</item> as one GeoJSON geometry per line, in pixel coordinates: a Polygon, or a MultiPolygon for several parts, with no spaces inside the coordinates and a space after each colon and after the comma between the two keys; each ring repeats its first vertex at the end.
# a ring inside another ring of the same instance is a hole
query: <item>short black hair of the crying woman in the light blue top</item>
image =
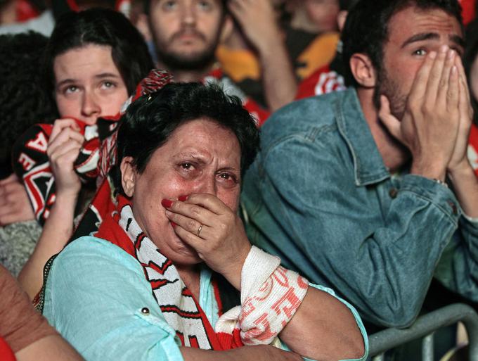
{"type": "Polygon", "coordinates": [[[237,96],[228,96],[217,85],[171,83],[131,103],[120,120],[117,135],[115,185],[121,188],[119,166],[124,157],[143,172],[157,148],[174,130],[190,120],[206,118],[231,130],[240,146],[240,171],[247,170],[259,151],[259,129],[237,96]]]}

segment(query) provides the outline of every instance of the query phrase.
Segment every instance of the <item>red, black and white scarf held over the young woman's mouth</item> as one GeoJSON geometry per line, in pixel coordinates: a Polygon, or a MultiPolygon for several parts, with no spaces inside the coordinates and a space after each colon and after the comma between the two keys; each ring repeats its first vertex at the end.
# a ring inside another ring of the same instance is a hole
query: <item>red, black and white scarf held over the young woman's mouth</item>
{"type": "MultiPolygon", "coordinates": [[[[93,183],[99,186],[115,164],[116,132],[118,120],[129,104],[140,96],[153,93],[173,81],[169,72],[151,70],[134,92],[124,103],[117,115],[98,118],[96,125],[85,125],[75,120],[80,133],[84,136],[84,144],[75,160],[75,172],[82,183],[93,183]]],[[[55,203],[56,184],[51,170],[46,149],[53,129],[52,124],[33,125],[22,134],[13,146],[13,170],[18,179],[22,179],[28,198],[32,204],[35,218],[44,225],[49,217],[51,207],[55,203]]]]}

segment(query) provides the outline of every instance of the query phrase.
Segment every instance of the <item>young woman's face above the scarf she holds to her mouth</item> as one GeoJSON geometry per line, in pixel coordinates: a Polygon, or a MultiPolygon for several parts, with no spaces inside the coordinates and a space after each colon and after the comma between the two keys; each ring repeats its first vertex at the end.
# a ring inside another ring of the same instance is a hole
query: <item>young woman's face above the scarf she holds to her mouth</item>
{"type": "Polygon", "coordinates": [[[66,51],[55,58],[53,72],[61,118],[93,125],[99,117],[116,115],[128,98],[110,46],[88,44],[66,51]]]}

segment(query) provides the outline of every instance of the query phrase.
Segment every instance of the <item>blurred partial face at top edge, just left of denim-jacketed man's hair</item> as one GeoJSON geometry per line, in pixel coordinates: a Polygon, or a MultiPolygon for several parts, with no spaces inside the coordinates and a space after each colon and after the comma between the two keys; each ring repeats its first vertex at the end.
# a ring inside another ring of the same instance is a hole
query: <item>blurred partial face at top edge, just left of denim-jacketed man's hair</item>
{"type": "Polygon", "coordinates": [[[305,0],[304,6],[319,32],[337,30],[337,15],[340,11],[338,0],[305,0]]]}

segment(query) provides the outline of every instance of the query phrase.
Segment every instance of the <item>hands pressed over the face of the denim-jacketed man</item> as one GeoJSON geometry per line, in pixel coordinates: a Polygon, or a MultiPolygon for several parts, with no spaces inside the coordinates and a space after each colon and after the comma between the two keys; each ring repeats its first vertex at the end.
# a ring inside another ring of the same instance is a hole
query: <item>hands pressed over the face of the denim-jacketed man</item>
{"type": "Polygon", "coordinates": [[[444,180],[446,171],[466,158],[466,124],[471,120],[465,119],[469,111],[462,73],[456,51],[442,46],[418,70],[401,120],[390,113],[387,97],[381,98],[380,119],[411,151],[413,174],[444,180]]]}

